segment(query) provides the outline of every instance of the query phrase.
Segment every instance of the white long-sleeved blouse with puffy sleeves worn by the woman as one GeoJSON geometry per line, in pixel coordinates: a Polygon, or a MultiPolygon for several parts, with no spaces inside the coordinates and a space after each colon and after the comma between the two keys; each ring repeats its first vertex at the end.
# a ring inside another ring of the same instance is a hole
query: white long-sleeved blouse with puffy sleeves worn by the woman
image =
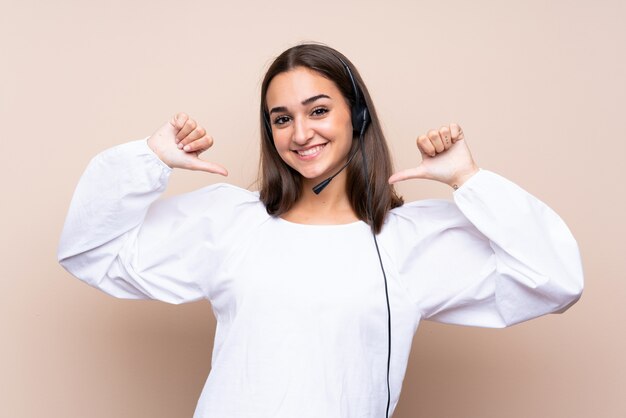
{"type": "MultiPolygon", "coordinates": [[[[146,139],[110,148],[76,188],[59,262],[119,298],[206,298],[217,329],[194,418],[381,418],[387,305],[370,228],[267,214],[227,184],[158,199],[171,168],[146,139]]],[[[391,304],[391,409],[422,319],[505,327],[582,292],[577,243],[547,205],[481,169],[393,209],[378,235],[391,304]]]]}

